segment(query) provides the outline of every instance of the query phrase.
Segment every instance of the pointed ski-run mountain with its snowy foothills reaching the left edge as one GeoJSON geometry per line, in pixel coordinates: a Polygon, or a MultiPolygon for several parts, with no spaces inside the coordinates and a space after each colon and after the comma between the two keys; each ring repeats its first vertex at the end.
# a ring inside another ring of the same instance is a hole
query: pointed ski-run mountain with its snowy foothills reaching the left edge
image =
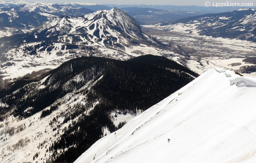
{"type": "Polygon", "coordinates": [[[31,33],[0,38],[0,44],[3,80],[53,69],[82,56],[127,60],[145,54],[167,57],[174,54],[155,38],[145,35],[134,19],[117,8],[81,17],[51,18],[31,33]]]}

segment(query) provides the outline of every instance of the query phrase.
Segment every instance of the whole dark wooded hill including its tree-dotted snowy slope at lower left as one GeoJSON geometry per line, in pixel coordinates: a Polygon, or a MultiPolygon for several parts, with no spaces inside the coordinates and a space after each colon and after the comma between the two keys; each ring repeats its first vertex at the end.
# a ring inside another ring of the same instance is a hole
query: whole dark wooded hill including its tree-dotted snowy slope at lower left
{"type": "MultiPolygon", "coordinates": [[[[16,73],[22,73],[20,71],[16,73]]],[[[138,116],[144,108],[146,110],[194,80],[191,75],[197,74],[164,57],[148,55],[124,62],[83,57],[62,64],[40,81],[12,87],[8,93],[1,90],[0,163],[46,163],[46,159],[48,163],[49,159],[52,163],[58,162],[56,157],[63,150],[67,161],[73,162],[99,140],[103,132],[108,135],[109,131],[121,128],[124,122],[138,116]],[[149,64],[143,64],[145,61],[149,64]],[[153,65],[157,63],[164,63],[163,66],[169,64],[165,68],[158,68],[153,65]],[[151,64],[153,66],[148,66],[151,64]],[[138,68],[134,69],[135,66],[138,68]],[[120,76],[122,80],[118,79],[120,76]],[[140,83],[143,83],[144,90],[140,89],[140,83]],[[110,91],[100,90],[102,87],[109,87],[110,91]],[[120,88],[122,92],[116,90],[118,94],[113,96],[116,94],[112,93],[112,90],[115,91],[113,87],[120,88]],[[123,100],[124,97],[128,102],[123,100]],[[117,102],[113,104],[112,99],[117,102]],[[24,101],[24,105],[20,105],[20,101],[24,101]],[[100,114],[102,111],[104,115],[100,114]],[[83,121],[88,118],[93,121],[83,121]],[[104,119],[108,120],[102,122],[104,119]],[[98,126],[97,133],[95,125],[98,126]],[[88,133],[87,136],[84,131],[88,133]],[[70,137],[72,134],[76,136],[70,137]],[[56,143],[61,142],[66,145],[57,147],[56,143]],[[83,144],[88,145],[84,148],[83,144]],[[33,158],[36,153],[38,157],[33,158]],[[76,155],[70,159],[67,153],[76,155]]]]}

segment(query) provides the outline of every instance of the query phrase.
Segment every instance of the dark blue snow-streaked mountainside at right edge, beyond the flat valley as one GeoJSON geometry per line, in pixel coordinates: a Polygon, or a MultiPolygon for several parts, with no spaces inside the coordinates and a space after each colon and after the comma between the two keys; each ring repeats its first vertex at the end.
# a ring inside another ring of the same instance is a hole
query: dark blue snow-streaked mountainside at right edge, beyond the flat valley
{"type": "Polygon", "coordinates": [[[242,8],[231,12],[188,17],[151,27],[196,35],[256,41],[255,19],[256,9],[242,8]]]}

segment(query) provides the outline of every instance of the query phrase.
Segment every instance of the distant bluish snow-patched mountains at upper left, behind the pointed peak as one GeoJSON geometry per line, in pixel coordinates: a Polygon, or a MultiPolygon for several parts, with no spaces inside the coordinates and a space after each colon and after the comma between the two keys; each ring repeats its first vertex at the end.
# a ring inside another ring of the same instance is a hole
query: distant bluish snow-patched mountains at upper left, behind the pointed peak
{"type": "Polygon", "coordinates": [[[52,17],[81,16],[94,11],[82,7],[60,6],[52,3],[30,3],[0,9],[0,37],[31,32],[52,17]]]}

